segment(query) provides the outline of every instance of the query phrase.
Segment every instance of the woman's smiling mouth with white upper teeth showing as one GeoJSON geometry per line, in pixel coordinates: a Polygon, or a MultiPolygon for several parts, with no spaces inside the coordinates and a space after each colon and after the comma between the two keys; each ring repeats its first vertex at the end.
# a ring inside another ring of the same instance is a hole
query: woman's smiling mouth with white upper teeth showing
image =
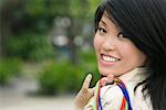
{"type": "Polygon", "coordinates": [[[120,61],[120,58],[113,57],[111,55],[101,54],[101,56],[102,56],[102,59],[107,63],[115,63],[120,61]]]}

